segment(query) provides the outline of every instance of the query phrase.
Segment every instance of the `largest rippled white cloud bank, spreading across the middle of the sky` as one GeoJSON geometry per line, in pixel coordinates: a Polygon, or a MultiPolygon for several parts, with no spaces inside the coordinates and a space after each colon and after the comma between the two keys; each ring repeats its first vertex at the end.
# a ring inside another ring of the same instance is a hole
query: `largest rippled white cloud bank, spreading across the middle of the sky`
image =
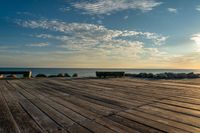
{"type": "MultiPolygon", "coordinates": [[[[62,33],[62,35],[39,34],[35,37],[58,40],[60,41],[58,48],[74,51],[74,55],[85,55],[95,59],[136,60],[143,53],[155,53],[145,48],[145,40],[157,46],[165,43],[167,39],[156,33],[113,30],[102,25],[87,23],[66,23],[58,20],[30,20],[17,21],[17,23],[27,28],[41,28],[62,33]]],[[[32,46],[43,46],[43,44],[32,44],[32,46]]]]}

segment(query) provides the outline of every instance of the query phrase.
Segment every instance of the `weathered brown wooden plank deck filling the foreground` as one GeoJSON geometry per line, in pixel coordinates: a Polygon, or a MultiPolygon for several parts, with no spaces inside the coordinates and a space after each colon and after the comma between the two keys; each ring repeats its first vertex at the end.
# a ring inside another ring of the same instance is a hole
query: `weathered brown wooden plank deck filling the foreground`
{"type": "Polygon", "coordinates": [[[200,79],[0,80],[1,133],[200,133],[200,79]]]}

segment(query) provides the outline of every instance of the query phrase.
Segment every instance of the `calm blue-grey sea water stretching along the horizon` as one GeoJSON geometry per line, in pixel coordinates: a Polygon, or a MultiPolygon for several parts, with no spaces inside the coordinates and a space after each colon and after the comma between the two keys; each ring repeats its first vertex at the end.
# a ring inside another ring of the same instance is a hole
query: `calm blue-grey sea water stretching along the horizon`
{"type": "Polygon", "coordinates": [[[70,75],[77,73],[79,77],[93,77],[96,71],[124,71],[126,73],[200,73],[199,69],[85,69],[85,68],[0,68],[0,71],[27,71],[30,70],[33,76],[42,73],[46,75],[56,75],[58,73],[68,73],[70,75]]]}

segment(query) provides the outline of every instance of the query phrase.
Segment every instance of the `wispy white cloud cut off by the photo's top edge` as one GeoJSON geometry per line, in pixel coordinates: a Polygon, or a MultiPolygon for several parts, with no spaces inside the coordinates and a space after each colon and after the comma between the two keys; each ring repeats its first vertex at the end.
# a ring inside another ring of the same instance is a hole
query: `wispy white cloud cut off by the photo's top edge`
{"type": "Polygon", "coordinates": [[[161,5],[157,0],[96,0],[95,2],[76,2],[75,8],[85,10],[87,14],[110,14],[115,11],[134,9],[147,12],[161,5]]]}

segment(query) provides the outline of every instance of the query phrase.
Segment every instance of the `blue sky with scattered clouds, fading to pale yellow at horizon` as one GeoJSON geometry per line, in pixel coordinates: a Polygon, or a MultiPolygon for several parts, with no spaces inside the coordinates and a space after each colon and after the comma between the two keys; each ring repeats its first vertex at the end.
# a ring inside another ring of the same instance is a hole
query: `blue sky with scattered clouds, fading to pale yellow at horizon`
{"type": "Polygon", "coordinates": [[[200,1],[1,0],[0,67],[200,69],[200,1]]]}

